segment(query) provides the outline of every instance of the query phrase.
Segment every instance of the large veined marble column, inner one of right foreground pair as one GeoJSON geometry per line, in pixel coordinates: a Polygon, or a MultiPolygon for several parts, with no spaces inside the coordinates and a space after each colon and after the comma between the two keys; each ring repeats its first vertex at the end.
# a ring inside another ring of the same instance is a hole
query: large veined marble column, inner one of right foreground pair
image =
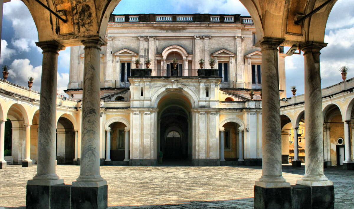
{"type": "Polygon", "coordinates": [[[282,39],[262,38],[262,176],[259,187],[290,187],[281,173],[278,46],[282,39]]]}

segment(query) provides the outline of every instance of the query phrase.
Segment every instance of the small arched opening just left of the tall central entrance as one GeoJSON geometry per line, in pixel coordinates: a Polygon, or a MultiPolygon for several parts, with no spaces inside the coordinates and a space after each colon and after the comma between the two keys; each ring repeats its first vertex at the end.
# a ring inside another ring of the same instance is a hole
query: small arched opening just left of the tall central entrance
{"type": "Polygon", "coordinates": [[[110,134],[110,159],[111,161],[123,161],[125,158],[125,128],[127,126],[122,122],[114,122],[109,127],[111,131],[106,131],[106,139],[108,139],[107,134],[110,134]]]}

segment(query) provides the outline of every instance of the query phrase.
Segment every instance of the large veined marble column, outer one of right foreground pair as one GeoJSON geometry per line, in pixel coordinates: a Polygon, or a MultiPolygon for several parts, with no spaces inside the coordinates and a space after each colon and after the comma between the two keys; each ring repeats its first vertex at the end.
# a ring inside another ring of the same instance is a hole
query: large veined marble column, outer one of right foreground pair
{"type": "MultiPolygon", "coordinates": [[[[299,185],[330,186],[323,173],[323,118],[320,50],[325,43],[307,42],[300,46],[305,63],[305,175],[299,185]]],[[[262,84],[263,85],[263,84],[262,84]]]]}

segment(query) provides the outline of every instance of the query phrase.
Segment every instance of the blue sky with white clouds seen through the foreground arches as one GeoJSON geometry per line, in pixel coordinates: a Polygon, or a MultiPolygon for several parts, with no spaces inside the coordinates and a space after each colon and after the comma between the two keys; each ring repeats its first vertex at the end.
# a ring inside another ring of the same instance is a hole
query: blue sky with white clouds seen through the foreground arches
{"type": "MultiPolygon", "coordinates": [[[[347,77],[354,77],[354,0],[338,0],[329,16],[325,42],[321,50],[322,87],[336,84],[341,79],[337,69],[348,66],[347,77]]],[[[8,80],[27,86],[28,77],[34,77],[33,89],[40,90],[42,54],[38,33],[27,7],[22,1],[12,0],[4,4],[1,37],[0,64],[11,67],[8,80]]],[[[249,13],[238,0],[122,0],[114,14],[137,13],[249,13]],[[198,5],[195,7],[195,5],[198,5]]],[[[70,47],[59,52],[58,93],[63,93],[69,82],[70,47]]],[[[297,86],[297,93],[304,92],[304,58],[302,55],[286,57],[286,88],[290,97],[290,86],[297,86]]]]}

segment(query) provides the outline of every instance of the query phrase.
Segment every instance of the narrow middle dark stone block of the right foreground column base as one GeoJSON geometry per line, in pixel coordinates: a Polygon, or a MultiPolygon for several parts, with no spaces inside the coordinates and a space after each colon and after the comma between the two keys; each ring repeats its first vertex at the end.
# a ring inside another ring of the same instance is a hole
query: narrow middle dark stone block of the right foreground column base
{"type": "Polygon", "coordinates": [[[291,185],[292,209],[311,208],[311,187],[291,185]]]}

